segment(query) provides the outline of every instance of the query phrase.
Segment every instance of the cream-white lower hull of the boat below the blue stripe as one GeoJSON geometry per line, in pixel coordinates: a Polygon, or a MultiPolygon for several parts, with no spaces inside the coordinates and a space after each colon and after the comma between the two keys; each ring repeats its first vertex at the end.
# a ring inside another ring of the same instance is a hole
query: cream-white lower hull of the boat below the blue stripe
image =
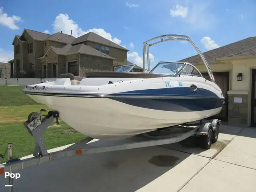
{"type": "Polygon", "coordinates": [[[136,107],[108,98],[29,96],[58,111],[60,118],[78,132],[97,139],[128,138],[157,128],[201,120],[222,109],[173,112],[136,107]]]}

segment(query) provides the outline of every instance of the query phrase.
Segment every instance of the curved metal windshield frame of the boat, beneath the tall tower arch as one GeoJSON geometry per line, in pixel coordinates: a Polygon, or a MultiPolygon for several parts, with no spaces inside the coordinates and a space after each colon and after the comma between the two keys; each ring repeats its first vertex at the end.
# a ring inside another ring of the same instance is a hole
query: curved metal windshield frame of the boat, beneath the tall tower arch
{"type": "Polygon", "coordinates": [[[157,74],[161,74],[161,75],[168,75],[168,76],[174,76],[174,77],[176,77],[176,76],[178,76],[178,75],[188,75],[188,76],[198,76],[198,77],[203,77],[202,76],[202,74],[201,74],[201,72],[194,66],[194,65],[192,65],[192,64],[190,64],[190,63],[188,63],[188,62],[172,62],[172,61],[160,61],[160,62],[158,62],[150,71],[149,71],[149,73],[154,73],[154,70],[160,65],[160,64],[163,64],[163,63],[166,63],[166,64],[168,64],[168,63],[173,63],[173,64],[182,64],[182,66],[180,66],[180,68],[178,68],[178,70],[176,71],[176,73],[174,73],[174,74],[168,74],[168,73],[157,73],[157,74]],[[197,72],[198,72],[198,74],[199,75],[195,75],[195,74],[188,74],[188,73],[181,73],[182,72],[182,70],[186,67],[186,66],[191,66],[192,68],[194,68],[192,71],[191,71],[191,73],[194,71],[194,70],[196,70],[197,72]]]}

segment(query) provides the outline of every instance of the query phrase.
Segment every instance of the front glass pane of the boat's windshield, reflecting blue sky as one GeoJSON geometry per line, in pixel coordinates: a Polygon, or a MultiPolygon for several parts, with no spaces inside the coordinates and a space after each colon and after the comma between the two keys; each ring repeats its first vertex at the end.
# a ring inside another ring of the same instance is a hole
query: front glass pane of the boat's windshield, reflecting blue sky
{"type": "Polygon", "coordinates": [[[159,62],[150,73],[175,75],[184,63],[159,62]]]}

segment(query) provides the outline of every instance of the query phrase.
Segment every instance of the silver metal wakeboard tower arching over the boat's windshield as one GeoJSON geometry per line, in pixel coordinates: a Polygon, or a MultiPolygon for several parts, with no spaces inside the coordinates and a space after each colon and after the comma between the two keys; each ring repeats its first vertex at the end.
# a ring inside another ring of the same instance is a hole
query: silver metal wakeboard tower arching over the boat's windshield
{"type": "MultiPolygon", "coordinates": [[[[173,41],[173,40],[190,42],[192,44],[192,46],[196,49],[196,51],[198,52],[199,56],[201,57],[204,65],[206,66],[206,70],[207,70],[207,72],[210,76],[210,81],[216,83],[213,72],[212,72],[206,58],[204,57],[204,54],[202,54],[202,52],[199,50],[199,48],[196,46],[196,44],[194,44],[194,42],[191,40],[191,38],[187,35],[166,34],[166,35],[157,36],[155,38],[152,38],[150,40],[145,41],[143,43],[143,72],[145,72],[146,70],[152,71],[152,70],[150,70],[149,47],[160,44],[162,42],[173,41]],[[158,41],[150,43],[154,40],[158,40],[158,41]],[[147,53],[148,69],[146,69],[146,53],[147,53]]],[[[178,63],[178,62],[176,62],[176,63],[178,63]]],[[[186,64],[189,64],[189,63],[186,63],[186,64]]],[[[192,64],[190,64],[190,65],[192,65],[192,64]]],[[[193,67],[196,68],[195,66],[193,66],[193,67]]],[[[196,68],[196,70],[199,72],[199,70],[197,68],[196,68]]]]}

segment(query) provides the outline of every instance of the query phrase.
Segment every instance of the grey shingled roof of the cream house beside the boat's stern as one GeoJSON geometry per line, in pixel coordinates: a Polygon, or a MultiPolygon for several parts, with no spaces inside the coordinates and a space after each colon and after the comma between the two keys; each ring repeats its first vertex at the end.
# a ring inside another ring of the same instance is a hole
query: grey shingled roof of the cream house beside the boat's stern
{"type": "MultiPolygon", "coordinates": [[[[204,52],[203,54],[208,62],[216,62],[217,58],[256,55],[256,36],[249,37],[249,38],[204,52]]],[[[180,62],[189,62],[191,64],[202,63],[202,59],[197,54],[192,57],[182,59],[180,60],[180,62]]]]}

